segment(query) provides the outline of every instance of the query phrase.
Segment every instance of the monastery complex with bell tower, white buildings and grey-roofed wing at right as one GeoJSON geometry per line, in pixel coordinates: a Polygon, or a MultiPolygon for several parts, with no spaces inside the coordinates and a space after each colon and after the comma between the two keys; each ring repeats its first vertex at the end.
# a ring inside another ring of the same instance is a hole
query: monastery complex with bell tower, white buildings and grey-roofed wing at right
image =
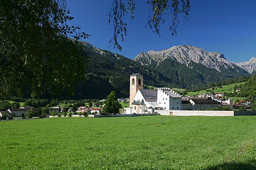
{"type": "MultiPolygon", "coordinates": [[[[231,107],[231,100],[227,101],[231,107]]],[[[209,97],[182,98],[170,88],[143,89],[143,76],[130,75],[130,107],[125,114],[150,114],[163,111],[193,111],[221,106],[209,97]]]]}

